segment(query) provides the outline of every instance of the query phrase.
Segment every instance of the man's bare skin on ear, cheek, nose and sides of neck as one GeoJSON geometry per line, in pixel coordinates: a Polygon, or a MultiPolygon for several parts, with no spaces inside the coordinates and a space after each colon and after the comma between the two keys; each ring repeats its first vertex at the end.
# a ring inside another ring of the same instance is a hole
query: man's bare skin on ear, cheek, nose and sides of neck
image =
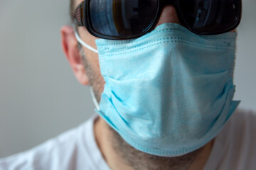
{"type": "MultiPolygon", "coordinates": [[[[75,6],[80,4],[81,1],[82,0],[77,0],[75,6]]],[[[180,24],[174,6],[169,5],[164,7],[156,26],[159,26],[163,23],[180,24]]],[[[235,32],[235,30],[232,32],[235,32]]],[[[82,85],[92,85],[90,82],[90,77],[88,77],[87,70],[85,69],[85,64],[83,63],[82,57],[80,56],[80,51],[78,50],[78,41],[75,39],[73,28],[70,26],[63,26],[63,28],[60,30],[60,33],[62,38],[63,52],[65,53],[65,56],[67,57],[68,62],[73,69],[75,77],[78,79],[78,81],[80,81],[80,84],[82,85]]],[[[95,40],[97,38],[90,35],[90,33],[88,33],[84,27],[78,28],[78,33],[80,38],[82,38],[85,43],[97,49],[95,44],[95,40]]],[[[87,62],[90,63],[90,69],[92,69],[91,71],[95,74],[95,77],[97,77],[98,84],[100,84],[100,86],[94,86],[94,90],[101,94],[104,89],[105,81],[102,77],[102,74],[100,73],[98,55],[85,47],[82,47],[82,50],[85,53],[87,62]]],[[[102,156],[111,169],[132,169],[124,162],[124,160],[122,160],[119,154],[112,147],[112,143],[109,140],[111,132],[107,126],[107,123],[105,123],[105,120],[102,118],[97,118],[97,120],[95,120],[95,140],[97,142],[97,146],[100,149],[100,152],[102,153],[102,156]]],[[[206,162],[208,161],[212,147],[213,140],[205,145],[200,154],[197,155],[196,160],[190,167],[191,170],[203,169],[206,162]]]]}

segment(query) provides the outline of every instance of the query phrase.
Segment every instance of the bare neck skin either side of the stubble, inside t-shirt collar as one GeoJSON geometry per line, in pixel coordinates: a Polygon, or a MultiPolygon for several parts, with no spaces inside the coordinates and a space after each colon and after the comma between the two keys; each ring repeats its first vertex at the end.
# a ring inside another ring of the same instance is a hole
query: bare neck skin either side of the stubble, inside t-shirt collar
{"type": "MultiPolygon", "coordinates": [[[[97,146],[100,149],[100,152],[102,153],[103,158],[107,162],[107,164],[110,166],[111,169],[117,170],[117,169],[123,169],[123,170],[130,170],[133,169],[127,162],[123,159],[122,155],[117,152],[117,148],[113,147],[112,143],[112,132],[105,123],[105,120],[102,118],[97,118],[95,120],[94,124],[94,133],[95,133],[95,140],[97,142],[97,146]]],[[[213,147],[213,140],[209,142],[207,145],[205,145],[201,152],[198,152],[196,154],[196,158],[191,163],[189,170],[200,170],[203,169],[203,167],[206,165],[206,162],[208,161],[208,158],[210,156],[210,152],[213,147]]],[[[167,168],[168,166],[166,166],[167,168]]]]}

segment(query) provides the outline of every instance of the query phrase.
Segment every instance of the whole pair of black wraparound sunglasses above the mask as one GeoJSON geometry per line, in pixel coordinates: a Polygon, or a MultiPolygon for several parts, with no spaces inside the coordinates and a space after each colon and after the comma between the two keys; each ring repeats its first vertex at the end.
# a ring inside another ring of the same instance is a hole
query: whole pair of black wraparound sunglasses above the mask
{"type": "Polygon", "coordinates": [[[168,4],[181,25],[198,35],[226,33],[241,20],[242,0],[85,0],[74,18],[97,38],[127,40],[153,30],[168,4]]]}

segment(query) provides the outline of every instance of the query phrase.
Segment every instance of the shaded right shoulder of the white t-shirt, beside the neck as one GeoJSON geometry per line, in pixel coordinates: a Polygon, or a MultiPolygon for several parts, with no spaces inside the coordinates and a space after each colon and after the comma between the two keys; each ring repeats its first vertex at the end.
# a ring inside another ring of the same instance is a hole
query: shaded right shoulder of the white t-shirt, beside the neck
{"type": "Polygon", "coordinates": [[[255,169],[255,131],[256,113],[243,109],[235,111],[215,138],[206,169],[255,169]]]}

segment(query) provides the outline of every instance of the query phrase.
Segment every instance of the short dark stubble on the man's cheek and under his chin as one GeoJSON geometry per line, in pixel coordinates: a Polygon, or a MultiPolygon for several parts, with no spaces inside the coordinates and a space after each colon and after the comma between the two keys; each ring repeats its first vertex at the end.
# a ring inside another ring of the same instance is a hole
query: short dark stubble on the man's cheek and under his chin
{"type": "MultiPolygon", "coordinates": [[[[92,86],[97,102],[100,103],[100,96],[102,93],[100,89],[104,89],[104,82],[102,82],[99,76],[95,75],[95,72],[92,70],[90,62],[87,62],[85,52],[83,51],[80,44],[78,45],[78,48],[80,49],[80,56],[82,57],[87,77],[90,81],[90,86],[92,86]]],[[[130,146],[127,142],[125,142],[122,137],[120,137],[120,135],[110,127],[110,125],[107,126],[111,134],[108,139],[112,143],[112,148],[114,148],[116,154],[119,155],[119,157],[121,157],[122,160],[124,160],[124,162],[134,170],[189,169],[191,164],[195,162],[198,154],[200,154],[203,150],[202,147],[201,149],[198,149],[181,157],[159,157],[134,149],[134,147],[130,146]]]]}

